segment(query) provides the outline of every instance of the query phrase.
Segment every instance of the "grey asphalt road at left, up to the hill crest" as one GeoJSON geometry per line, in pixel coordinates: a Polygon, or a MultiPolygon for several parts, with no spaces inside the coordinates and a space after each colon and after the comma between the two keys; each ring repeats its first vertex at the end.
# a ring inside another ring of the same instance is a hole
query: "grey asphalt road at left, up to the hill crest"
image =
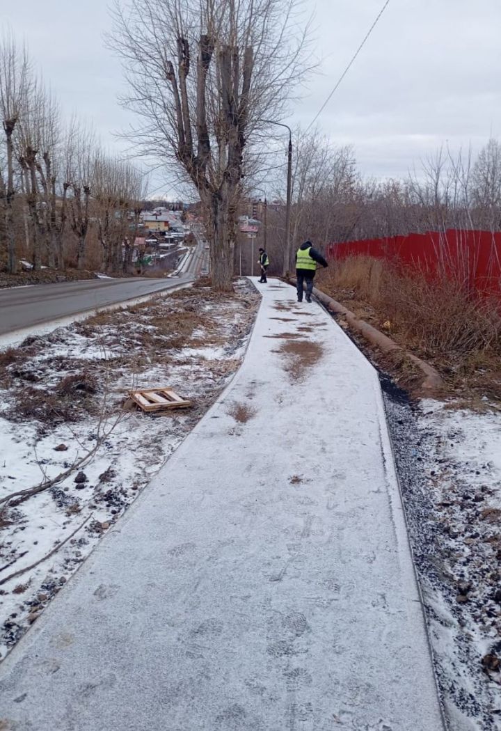
{"type": "Polygon", "coordinates": [[[176,279],[89,279],[0,289],[0,335],[179,287],[176,279]]]}

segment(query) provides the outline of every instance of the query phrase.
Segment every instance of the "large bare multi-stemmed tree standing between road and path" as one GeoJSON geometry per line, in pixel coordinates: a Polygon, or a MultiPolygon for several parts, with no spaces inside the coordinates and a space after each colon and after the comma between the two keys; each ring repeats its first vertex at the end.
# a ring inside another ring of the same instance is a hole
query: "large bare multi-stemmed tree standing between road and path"
{"type": "Polygon", "coordinates": [[[175,160],[210,223],[213,284],[231,288],[245,151],[304,80],[299,0],[115,2],[111,45],[126,68],[123,103],[142,117],[129,137],[175,160]],[[145,45],[145,38],[148,44],[145,45]]]}

